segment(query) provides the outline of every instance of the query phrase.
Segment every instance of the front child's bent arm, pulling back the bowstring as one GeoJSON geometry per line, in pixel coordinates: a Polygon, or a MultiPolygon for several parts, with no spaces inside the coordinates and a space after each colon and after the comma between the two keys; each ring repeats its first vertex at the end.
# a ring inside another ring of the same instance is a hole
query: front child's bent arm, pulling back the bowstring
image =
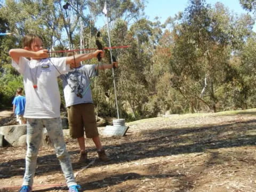
{"type": "Polygon", "coordinates": [[[35,58],[35,59],[49,58],[49,54],[47,52],[48,50],[40,50],[35,52],[35,51],[28,51],[25,49],[11,49],[9,51],[9,54],[16,63],[19,63],[20,57],[35,58]]]}

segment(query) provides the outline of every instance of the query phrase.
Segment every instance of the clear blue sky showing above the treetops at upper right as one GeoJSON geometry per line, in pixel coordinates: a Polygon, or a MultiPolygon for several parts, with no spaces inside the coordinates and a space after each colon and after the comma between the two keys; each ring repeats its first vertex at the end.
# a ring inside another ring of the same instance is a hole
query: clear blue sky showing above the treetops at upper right
{"type": "MultiPolygon", "coordinates": [[[[184,11],[188,6],[188,2],[188,0],[148,0],[145,14],[149,20],[153,21],[155,17],[159,17],[161,18],[159,20],[163,23],[168,17],[174,17],[176,13],[184,11]]],[[[239,4],[239,0],[206,0],[205,2],[212,6],[217,2],[221,2],[234,13],[246,13],[239,4]]]]}

